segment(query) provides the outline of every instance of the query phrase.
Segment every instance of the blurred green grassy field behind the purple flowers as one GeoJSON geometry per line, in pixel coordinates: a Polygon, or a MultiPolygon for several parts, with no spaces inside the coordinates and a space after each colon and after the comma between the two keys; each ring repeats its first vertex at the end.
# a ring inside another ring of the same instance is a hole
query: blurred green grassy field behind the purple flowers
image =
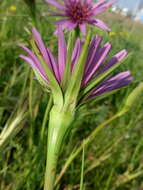
{"type": "MultiPolygon", "coordinates": [[[[56,53],[57,39],[53,36],[56,18],[48,15],[49,7],[42,1],[37,2],[36,9],[37,28],[46,45],[56,53]]],[[[100,123],[117,113],[128,94],[143,81],[143,25],[110,11],[101,17],[113,33],[109,35],[98,29],[93,33],[102,35],[104,42],[113,42],[111,55],[121,49],[131,52],[117,72],[130,70],[135,80],[115,95],[81,109],[72,134],[63,146],[58,174],[71,152],[100,123]]],[[[31,27],[31,12],[24,0],[0,2],[0,132],[7,130],[6,140],[2,142],[0,138],[0,190],[42,190],[43,187],[46,143],[39,143],[39,135],[49,96],[33,80],[27,63],[19,58],[22,50],[17,45],[18,42],[29,45],[31,27]]],[[[58,181],[56,189],[79,189],[82,165],[85,190],[142,190],[142,108],[143,97],[130,112],[101,130],[84,147],[84,161],[81,152],[58,181]]],[[[46,134],[47,127],[45,138],[46,134]]]]}

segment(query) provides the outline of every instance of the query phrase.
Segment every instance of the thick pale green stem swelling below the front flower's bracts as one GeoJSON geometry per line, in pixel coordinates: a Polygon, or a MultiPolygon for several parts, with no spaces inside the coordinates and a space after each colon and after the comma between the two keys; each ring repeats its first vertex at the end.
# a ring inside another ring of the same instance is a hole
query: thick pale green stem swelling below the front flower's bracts
{"type": "Polygon", "coordinates": [[[72,112],[58,110],[56,106],[50,112],[44,190],[54,188],[58,157],[73,119],[72,112]]]}

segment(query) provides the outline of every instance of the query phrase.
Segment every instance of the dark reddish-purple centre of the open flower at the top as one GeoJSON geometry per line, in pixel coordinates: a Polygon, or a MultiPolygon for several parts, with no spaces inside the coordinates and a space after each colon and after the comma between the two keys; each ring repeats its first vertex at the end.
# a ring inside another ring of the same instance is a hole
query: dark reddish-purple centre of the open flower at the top
{"type": "Polygon", "coordinates": [[[68,7],[68,15],[78,24],[86,21],[89,17],[89,7],[81,5],[80,2],[68,7]]]}

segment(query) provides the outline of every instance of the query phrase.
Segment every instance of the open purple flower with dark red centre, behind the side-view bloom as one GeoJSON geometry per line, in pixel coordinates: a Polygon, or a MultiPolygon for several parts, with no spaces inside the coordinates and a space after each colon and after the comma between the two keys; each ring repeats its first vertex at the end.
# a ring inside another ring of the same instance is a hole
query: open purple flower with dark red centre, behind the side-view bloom
{"type": "Polygon", "coordinates": [[[62,29],[72,30],[79,27],[81,32],[86,34],[86,24],[91,24],[103,30],[111,31],[103,21],[95,18],[95,16],[105,11],[116,0],[110,2],[99,0],[97,3],[93,3],[92,0],[64,0],[64,4],[60,4],[56,0],[45,1],[60,10],[59,12],[52,11],[52,13],[64,18],[56,22],[62,29]]]}

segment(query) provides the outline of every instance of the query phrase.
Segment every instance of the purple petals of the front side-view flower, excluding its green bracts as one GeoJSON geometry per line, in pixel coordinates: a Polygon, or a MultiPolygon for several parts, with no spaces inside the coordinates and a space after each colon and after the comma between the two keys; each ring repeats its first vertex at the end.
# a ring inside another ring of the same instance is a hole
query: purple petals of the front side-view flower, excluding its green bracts
{"type": "MultiPolygon", "coordinates": [[[[32,29],[33,38],[36,46],[38,47],[38,54],[45,62],[46,66],[50,69],[56,81],[62,88],[62,79],[64,76],[66,60],[67,60],[67,46],[64,39],[64,34],[61,29],[59,29],[58,33],[58,58],[56,59],[51,51],[47,49],[42,41],[42,38],[38,31],[33,28],[32,29]]],[[[107,61],[107,57],[111,50],[111,43],[106,43],[103,47],[101,46],[101,37],[95,36],[91,42],[88,49],[87,60],[84,68],[84,74],[82,77],[81,90],[84,89],[91,80],[100,77],[106,71],[115,66],[119,61],[123,60],[127,56],[127,51],[122,50],[116,55],[113,56],[109,61],[107,61]],[[106,61],[106,63],[105,63],[106,61]]],[[[72,53],[72,64],[71,64],[71,72],[72,76],[74,69],[78,64],[78,60],[82,51],[82,42],[78,38],[75,43],[75,47],[72,53]]],[[[47,76],[45,69],[41,64],[41,58],[39,58],[34,52],[29,50],[22,44],[19,46],[28,54],[28,56],[20,55],[22,59],[30,64],[30,66],[39,73],[42,80],[50,87],[49,76],[47,76]]],[[[68,76],[69,77],[69,76],[68,76]]],[[[112,92],[114,90],[120,89],[126,85],[128,85],[133,80],[129,71],[121,72],[116,74],[115,76],[107,76],[104,78],[98,85],[96,85],[88,94],[86,95],[87,99],[92,99],[97,96],[101,96],[103,94],[112,92]]],[[[70,81],[69,81],[70,82],[70,81]]]]}

